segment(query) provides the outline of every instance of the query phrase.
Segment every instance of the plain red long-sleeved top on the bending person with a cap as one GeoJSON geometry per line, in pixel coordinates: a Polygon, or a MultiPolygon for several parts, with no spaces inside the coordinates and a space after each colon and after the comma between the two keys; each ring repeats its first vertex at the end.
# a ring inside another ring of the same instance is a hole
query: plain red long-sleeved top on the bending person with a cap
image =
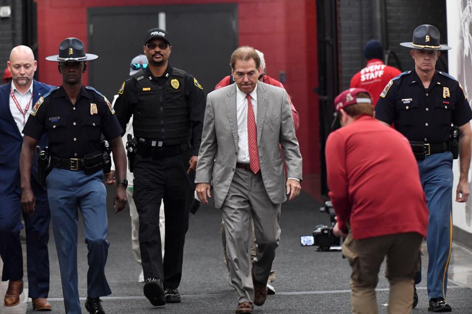
{"type": "Polygon", "coordinates": [[[326,141],[329,197],[341,230],[354,239],[416,232],[426,236],[428,208],[405,136],[363,115],[326,141]]]}

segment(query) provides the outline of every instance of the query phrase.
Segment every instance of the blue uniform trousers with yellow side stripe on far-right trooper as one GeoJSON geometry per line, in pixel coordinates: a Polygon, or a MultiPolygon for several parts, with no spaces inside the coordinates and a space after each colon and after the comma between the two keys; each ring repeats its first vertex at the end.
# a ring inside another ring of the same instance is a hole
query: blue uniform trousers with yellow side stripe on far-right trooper
{"type": "Polygon", "coordinates": [[[428,297],[445,299],[452,249],[452,154],[427,156],[418,161],[418,168],[429,209],[428,297]]]}

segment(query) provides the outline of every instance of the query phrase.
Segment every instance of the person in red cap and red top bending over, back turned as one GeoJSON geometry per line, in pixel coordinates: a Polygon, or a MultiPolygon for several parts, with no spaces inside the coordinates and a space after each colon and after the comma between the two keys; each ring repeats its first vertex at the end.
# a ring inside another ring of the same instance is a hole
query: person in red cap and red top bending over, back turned
{"type": "Polygon", "coordinates": [[[325,151],[333,233],[346,238],[353,313],[378,313],[375,288],[385,257],[388,313],[410,313],[428,208],[408,140],[376,120],[372,104],[362,88],[334,100],[342,128],[328,136],[325,151]]]}

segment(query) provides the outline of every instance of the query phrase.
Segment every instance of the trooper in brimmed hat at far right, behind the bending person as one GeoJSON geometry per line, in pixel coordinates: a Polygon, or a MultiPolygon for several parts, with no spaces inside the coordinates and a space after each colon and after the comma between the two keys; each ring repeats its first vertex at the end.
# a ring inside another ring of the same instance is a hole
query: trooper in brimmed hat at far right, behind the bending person
{"type": "MultiPolygon", "coordinates": [[[[450,312],[445,302],[447,267],[452,245],[452,159],[449,137],[451,124],[459,126],[460,178],[456,202],[469,197],[472,111],[459,82],[447,73],[435,71],[442,50],[439,30],[418,26],[411,49],[414,70],[393,78],[385,86],[375,108],[376,118],[405,135],[412,144],[429,208],[428,276],[429,311],[450,312]]],[[[415,283],[421,281],[417,274],[415,283]]],[[[414,300],[417,302],[416,290],[414,300]]],[[[413,307],[415,304],[413,304],[413,307]]]]}

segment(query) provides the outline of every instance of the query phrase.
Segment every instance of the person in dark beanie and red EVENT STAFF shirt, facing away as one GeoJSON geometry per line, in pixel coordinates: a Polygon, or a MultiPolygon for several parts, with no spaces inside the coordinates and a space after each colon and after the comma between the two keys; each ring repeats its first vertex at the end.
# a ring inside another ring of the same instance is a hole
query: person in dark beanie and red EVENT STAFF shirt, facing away
{"type": "Polygon", "coordinates": [[[372,95],[375,106],[385,85],[401,72],[397,68],[383,63],[382,44],[375,39],[371,39],[365,45],[364,57],[367,60],[367,65],[351,78],[349,87],[365,88],[372,95]]]}

